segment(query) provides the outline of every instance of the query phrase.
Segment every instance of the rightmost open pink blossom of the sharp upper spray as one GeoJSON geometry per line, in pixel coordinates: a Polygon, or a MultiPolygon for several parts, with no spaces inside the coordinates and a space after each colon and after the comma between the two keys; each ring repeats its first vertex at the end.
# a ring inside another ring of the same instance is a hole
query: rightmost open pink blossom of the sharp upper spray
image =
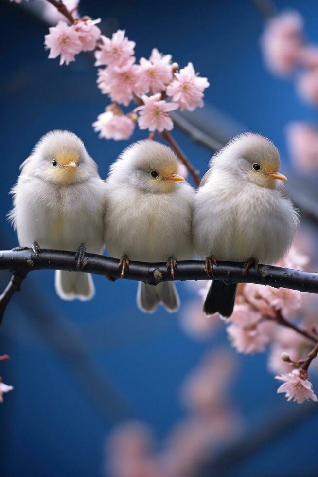
{"type": "Polygon", "coordinates": [[[178,103],[181,110],[202,108],[203,91],[210,86],[207,78],[197,76],[192,63],[188,63],[175,76],[177,79],[167,87],[167,95],[172,96],[172,101],[178,103]]]}

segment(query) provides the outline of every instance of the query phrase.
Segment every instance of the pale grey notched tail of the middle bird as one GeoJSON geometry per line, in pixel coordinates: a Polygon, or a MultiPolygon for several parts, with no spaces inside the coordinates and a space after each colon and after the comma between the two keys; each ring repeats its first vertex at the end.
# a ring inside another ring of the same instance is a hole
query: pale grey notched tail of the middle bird
{"type": "Polygon", "coordinates": [[[167,281],[154,286],[139,282],[137,292],[138,308],[142,312],[153,313],[159,303],[162,303],[169,313],[177,311],[180,300],[175,284],[167,281]]]}

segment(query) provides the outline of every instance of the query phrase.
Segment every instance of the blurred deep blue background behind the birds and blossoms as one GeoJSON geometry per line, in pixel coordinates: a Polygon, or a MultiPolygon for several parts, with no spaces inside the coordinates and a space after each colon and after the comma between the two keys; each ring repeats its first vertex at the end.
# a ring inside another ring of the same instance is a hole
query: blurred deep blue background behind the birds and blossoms
{"type": "MultiPolygon", "coordinates": [[[[5,220],[11,208],[8,191],[42,134],[54,128],[78,134],[102,177],[128,142],[99,140],[91,128],[106,97],[95,86],[89,55],[60,67],[58,60],[47,59],[43,48],[47,26],[18,5],[0,6],[0,247],[10,248],[17,239],[5,220]]],[[[318,40],[317,1],[277,1],[277,6],[298,8],[308,37],[318,40]]],[[[317,115],[297,97],[293,81],[277,79],[263,66],[258,43],[263,20],[247,0],[83,0],[81,12],[108,19],[106,30],[125,29],[136,41],[137,58],[157,47],[180,65],[192,61],[211,84],[207,107],[269,136],[285,157],[285,124],[317,115]]],[[[210,152],[178,130],[175,136],[204,173],[210,152]]],[[[133,139],[141,137],[145,133],[137,132],[133,139]]],[[[8,277],[1,274],[1,287],[8,277]]],[[[15,390],[0,406],[1,476],[99,476],[104,439],[127,416],[153,426],[160,441],[184,415],[177,399],[184,377],[206,349],[226,342],[222,327],[201,343],[190,339],[177,317],[161,307],[154,315],[142,314],[135,306],[135,283],[112,284],[98,276],[94,281],[93,301],[68,303],[55,295],[53,272],[35,272],[7,309],[0,352],[12,359],[0,364],[0,374],[15,390]]],[[[187,284],[178,290],[186,307],[194,292],[187,284]]],[[[264,355],[237,355],[237,360],[241,370],[232,401],[244,415],[247,434],[268,417],[298,409],[276,395],[277,383],[266,370],[264,355]]],[[[317,425],[317,412],[308,413],[229,475],[318,475],[317,425]]]]}

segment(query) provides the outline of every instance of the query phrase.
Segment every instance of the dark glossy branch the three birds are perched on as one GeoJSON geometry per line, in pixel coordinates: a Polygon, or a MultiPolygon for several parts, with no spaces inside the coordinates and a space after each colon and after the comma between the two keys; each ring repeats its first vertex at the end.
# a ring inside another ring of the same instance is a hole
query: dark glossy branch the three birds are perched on
{"type": "MultiPolygon", "coordinates": [[[[82,271],[103,275],[110,281],[121,277],[117,258],[103,255],[86,254],[82,271]]],[[[180,261],[177,263],[175,279],[207,280],[204,271],[205,262],[201,260],[180,261]]],[[[257,283],[273,287],[290,288],[302,292],[318,293],[318,273],[301,272],[288,268],[260,265],[258,271],[249,269],[242,276],[242,263],[218,262],[214,267],[214,276],[210,279],[227,280],[230,283],[257,283]]],[[[22,280],[32,270],[67,270],[76,272],[75,253],[60,250],[42,250],[36,258],[31,249],[4,250],[0,252],[0,270],[10,270],[13,277],[0,297],[0,322],[6,305],[12,295],[19,290],[22,280]]],[[[125,279],[144,281],[157,285],[162,281],[172,281],[165,263],[145,263],[131,261],[125,279]]]]}

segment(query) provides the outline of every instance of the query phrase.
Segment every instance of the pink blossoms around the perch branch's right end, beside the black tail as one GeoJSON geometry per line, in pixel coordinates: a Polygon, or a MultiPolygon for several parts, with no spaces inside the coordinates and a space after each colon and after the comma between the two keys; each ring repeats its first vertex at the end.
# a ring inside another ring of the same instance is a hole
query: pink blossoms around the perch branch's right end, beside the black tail
{"type": "MultiPolygon", "coordinates": [[[[308,257],[292,247],[278,266],[303,270],[308,261],[308,257]]],[[[207,280],[198,290],[203,300],[210,285],[210,280],[207,280]]],[[[192,286],[197,287],[195,284],[192,286]]],[[[310,294],[297,290],[240,284],[234,311],[226,319],[228,337],[237,352],[254,354],[270,346],[268,368],[277,375],[276,379],[283,381],[278,392],[285,392],[288,400],[298,403],[306,399],[317,400],[308,379],[307,367],[310,364],[311,370],[318,372],[318,360],[307,362],[303,359],[313,349],[315,340],[318,341],[317,319],[314,313],[308,311],[313,299],[310,294]],[[294,324],[296,329],[293,329],[294,324]]],[[[197,339],[210,336],[219,323],[214,315],[205,316],[202,303],[194,303],[181,316],[184,330],[197,339]]]]}

